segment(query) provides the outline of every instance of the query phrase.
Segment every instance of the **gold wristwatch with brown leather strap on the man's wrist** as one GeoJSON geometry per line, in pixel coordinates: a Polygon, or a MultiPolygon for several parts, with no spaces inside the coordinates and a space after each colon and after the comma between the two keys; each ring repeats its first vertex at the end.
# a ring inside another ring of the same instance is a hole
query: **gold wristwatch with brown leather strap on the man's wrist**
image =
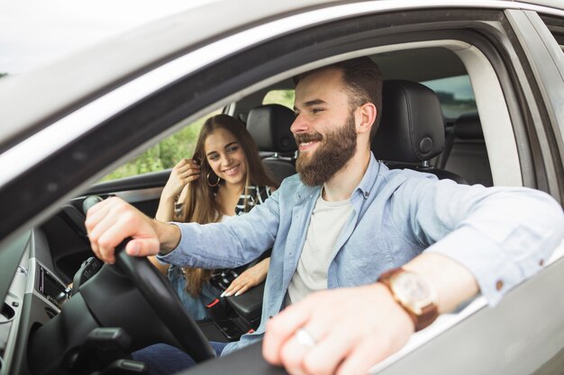
{"type": "Polygon", "coordinates": [[[394,268],[378,278],[413,319],[415,332],[422,330],[439,316],[437,297],[427,281],[415,272],[394,268]]]}

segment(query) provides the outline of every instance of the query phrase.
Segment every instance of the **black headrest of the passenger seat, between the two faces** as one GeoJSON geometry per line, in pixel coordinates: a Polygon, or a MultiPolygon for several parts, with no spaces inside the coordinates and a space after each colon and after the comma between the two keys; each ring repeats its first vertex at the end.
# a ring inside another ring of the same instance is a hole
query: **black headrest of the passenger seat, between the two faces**
{"type": "Polygon", "coordinates": [[[250,110],[247,129],[259,151],[293,152],[297,146],[290,126],[295,119],[294,111],[283,105],[260,105],[250,110]]]}

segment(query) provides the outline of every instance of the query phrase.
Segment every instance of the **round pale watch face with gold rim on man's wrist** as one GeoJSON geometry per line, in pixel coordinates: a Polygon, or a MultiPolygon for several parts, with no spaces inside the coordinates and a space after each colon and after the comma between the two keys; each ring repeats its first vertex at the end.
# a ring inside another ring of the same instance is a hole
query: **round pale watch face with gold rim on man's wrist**
{"type": "Polygon", "coordinates": [[[400,272],[392,277],[391,286],[396,298],[414,312],[432,302],[432,294],[427,283],[416,273],[400,272]]]}

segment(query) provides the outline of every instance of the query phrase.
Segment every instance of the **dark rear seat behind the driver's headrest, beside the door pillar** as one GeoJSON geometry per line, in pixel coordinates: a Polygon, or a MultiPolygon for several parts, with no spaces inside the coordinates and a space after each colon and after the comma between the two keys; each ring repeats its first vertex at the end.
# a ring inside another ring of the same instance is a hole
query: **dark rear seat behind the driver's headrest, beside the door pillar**
{"type": "Polygon", "coordinates": [[[452,137],[447,136],[442,167],[463,176],[469,184],[492,186],[486,141],[478,113],[461,115],[452,128],[452,137]]]}

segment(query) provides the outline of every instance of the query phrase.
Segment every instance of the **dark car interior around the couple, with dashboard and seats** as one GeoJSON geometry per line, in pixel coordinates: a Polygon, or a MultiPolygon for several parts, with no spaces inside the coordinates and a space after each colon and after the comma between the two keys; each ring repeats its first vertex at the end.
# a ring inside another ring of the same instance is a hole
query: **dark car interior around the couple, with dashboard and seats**
{"type": "MultiPolygon", "coordinates": [[[[415,169],[458,183],[523,185],[512,121],[506,109],[500,110],[505,108],[504,96],[494,69],[479,49],[462,41],[434,40],[332,58],[362,55],[376,61],[384,77],[382,118],[371,147],[378,160],[390,168],[415,169]],[[472,94],[452,114],[447,108],[459,99],[457,87],[444,93],[429,83],[457,77],[466,77],[472,94]],[[467,108],[472,101],[474,107],[467,108]],[[508,138],[504,145],[496,144],[496,139],[508,138]]],[[[330,62],[331,58],[321,59],[315,65],[330,62]]],[[[246,123],[268,173],[278,183],[296,173],[296,143],[289,129],[294,112],[282,103],[263,100],[273,90],[293,90],[296,73],[287,72],[259,88],[249,87],[236,100],[214,108],[246,123]]],[[[178,121],[173,128],[181,129],[193,120],[178,121]]],[[[116,162],[108,168],[117,166],[116,162]]],[[[23,238],[34,261],[28,264],[28,272],[34,272],[38,282],[29,303],[32,318],[19,334],[27,336],[27,363],[33,374],[59,373],[61,368],[67,369],[65,373],[101,373],[96,371],[157,342],[174,344],[204,361],[214,357],[206,340],[234,341],[259,326],[263,284],[225,298],[226,304],[208,306],[212,318],[193,322],[178,311],[174,292],[147,264],[123,260],[123,271],[116,272],[92,257],[84,225],[85,205],[89,206],[91,197],[119,196],[154,217],[169,173],[168,169],[92,184],[23,238]],[[141,294],[147,295],[143,289],[155,299],[143,298],[141,294]],[[113,290],[111,306],[104,296],[107,290],[113,290]],[[154,311],[154,306],[161,306],[160,311],[154,311]],[[144,318],[127,312],[132,310],[141,311],[144,318]],[[45,346],[45,340],[50,344],[45,346]]],[[[242,265],[235,273],[219,270],[219,285],[225,288],[248,266],[242,265]]],[[[23,285],[16,287],[23,293],[23,285]]],[[[14,322],[14,308],[7,302],[0,319],[1,358],[9,350],[5,322],[14,322]]],[[[115,373],[128,372],[118,369],[115,373]]]]}

